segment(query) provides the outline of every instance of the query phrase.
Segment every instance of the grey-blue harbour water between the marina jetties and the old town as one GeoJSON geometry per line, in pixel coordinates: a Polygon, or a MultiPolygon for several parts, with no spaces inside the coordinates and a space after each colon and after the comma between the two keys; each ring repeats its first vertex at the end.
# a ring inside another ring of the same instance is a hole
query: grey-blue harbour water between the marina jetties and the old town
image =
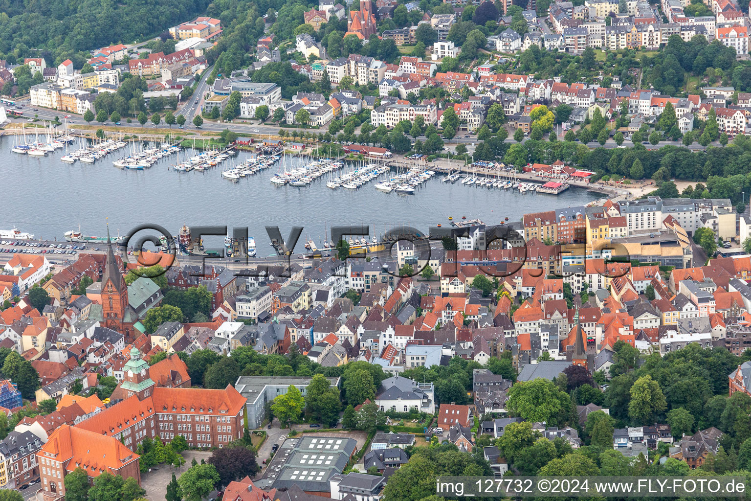
{"type": "MultiPolygon", "coordinates": [[[[179,172],[170,167],[176,158],[167,157],[151,168],[132,171],[113,166],[119,152],[93,164],[65,164],[60,161],[64,150],[34,157],[11,152],[12,144],[13,137],[0,137],[0,180],[5,190],[0,229],[17,226],[48,240],[63,240],[65,231],[79,226],[83,234],[104,234],[107,222],[113,234],[121,235],[144,223],[161,225],[173,235],[182,225],[247,226],[263,256],[273,251],[267,225],[279,226],[285,238],[292,226],[303,226],[296,248],[301,252],[306,237],[320,247],[324,235],[330,238],[332,225],[369,225],[371,236],[400,225],[422,231],[436,223],[448,226],[448,216],[495,225],[506,217],[518,221],[525,213],[581,206],[599,198],[583,189],[558,196],[521,194],[442,183],[441,176],[419,186],[415,195],[381,192],[375,182],[357,190],[329,189],[328,175],[306,187],[276,186],[270,178],[279,171],[277,166],[231,182],[222,177],[227,162],[203,172],[179,172]]],[[[234,163],[248,156],[239,152],[234,163]]],[[[179,158],[184,157],[181,152],[179,158]]],[[[286,167],[300,164],[300,158],[288,157],[286,167]]],[[[329,175],[342,172],[345,169],[329,175]]],[[[385,178],[388,173],[379,180],[385,178]]]]}

